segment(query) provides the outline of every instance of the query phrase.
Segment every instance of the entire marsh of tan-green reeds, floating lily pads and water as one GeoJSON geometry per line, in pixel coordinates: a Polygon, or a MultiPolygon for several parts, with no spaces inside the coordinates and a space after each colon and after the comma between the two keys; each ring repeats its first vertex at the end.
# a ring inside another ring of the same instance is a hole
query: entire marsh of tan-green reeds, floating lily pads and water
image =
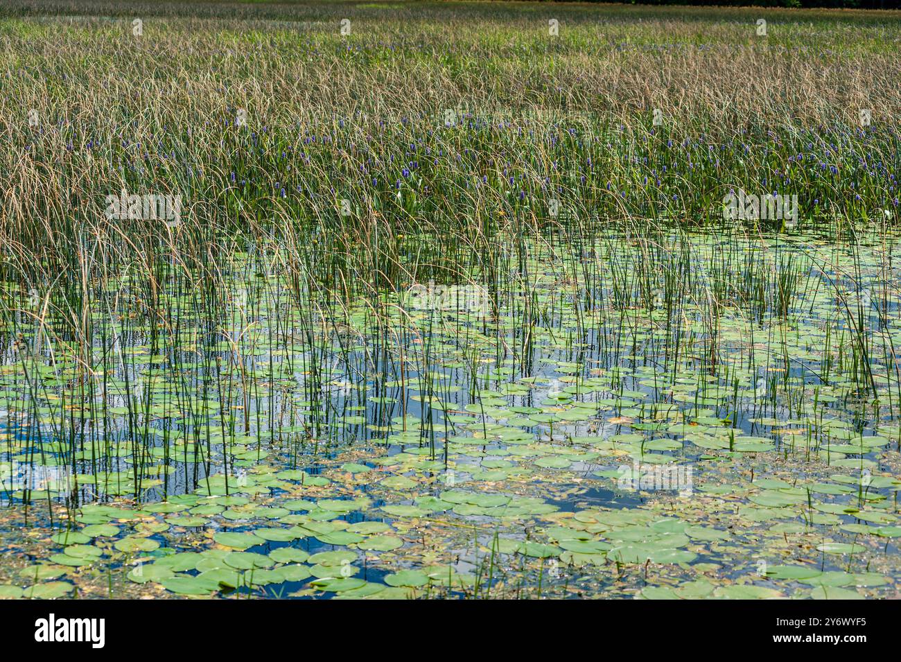
{"type": "Polygon", "coordinates": [[[894,594],[899,14],[758,14],[5,5],[0,596],[894,594]]]}

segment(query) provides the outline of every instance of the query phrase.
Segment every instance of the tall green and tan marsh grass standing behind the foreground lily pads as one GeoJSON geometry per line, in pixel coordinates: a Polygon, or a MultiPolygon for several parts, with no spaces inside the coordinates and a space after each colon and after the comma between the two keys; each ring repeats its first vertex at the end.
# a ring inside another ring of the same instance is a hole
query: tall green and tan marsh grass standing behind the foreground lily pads
{"type": "Polygon", "coordinates": [[[16,500],[228,495],[349,440],[446,471],[448,414],[488,439],[548,347],[576,394],[647,368],[649,420],[690,384],[736,425],[822,422],[820,389],[896,421],[896,14],[372,5],[5,5],[5,454],[62,467],[16,500]],[[796,229],[723,220],[774,187],[796,229]],[[105,218],[122,190],[182,221],[105,218]],[[411,311],[430,282],[485,300],[411,311]]]}

